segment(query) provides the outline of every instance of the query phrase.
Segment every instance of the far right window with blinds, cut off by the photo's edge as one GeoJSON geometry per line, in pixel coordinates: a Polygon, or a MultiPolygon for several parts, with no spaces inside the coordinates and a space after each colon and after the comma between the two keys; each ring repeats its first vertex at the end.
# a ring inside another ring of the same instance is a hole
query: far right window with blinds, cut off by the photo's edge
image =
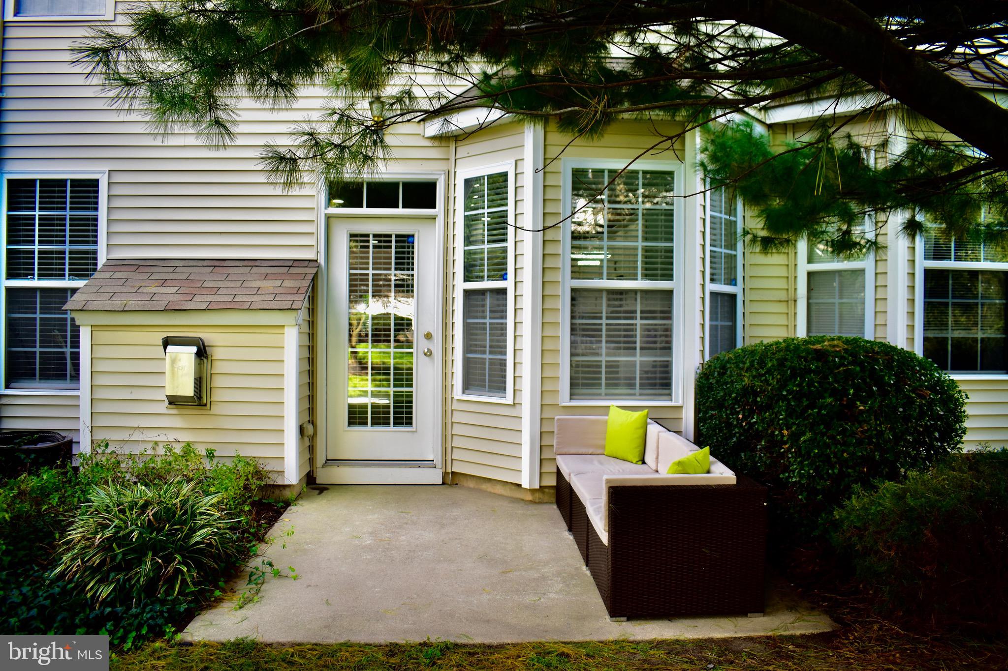
{"type": "Polygon", "coordinates": [[[1008,249],[923,238],[921,353],[953,373],[1008,372],[1008,249]]]}

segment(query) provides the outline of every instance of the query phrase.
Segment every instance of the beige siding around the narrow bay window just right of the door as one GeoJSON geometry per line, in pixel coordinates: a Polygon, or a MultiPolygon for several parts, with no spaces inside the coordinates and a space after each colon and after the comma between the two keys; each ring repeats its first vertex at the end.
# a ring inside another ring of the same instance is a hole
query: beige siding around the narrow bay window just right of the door
{"type": "MultiPolygon", "coordinates": [[[[521,123],[502,123],[481,131],[456,143],[455,170],[457,172],[479,170],[485,166],[514,162],[514,221],[522,225],[524,206],[524,142],[525,128],[521,123]]],[[[461,390],[455,389],[457,356],[462,347],[462,333],[455,328],[457,286],[456,264],[462,253],[463,242],[458,238],[458,206],[462,198],[463,183],[454,180],[455,193],[451,199],[452,221],[448,230],[450,240],[446,256],[446,274],[450,278],[449,326],[451,333],[448,366],[449,377],[446,405],[450,407],[449,450],[452,471],[493,478],[506,482],[521,482],[521,296],[524,291],[524,256],[522,244],[524,231],[512,229],[514,240],[514,402],[500,403],[455,398],[461,390]]]]}

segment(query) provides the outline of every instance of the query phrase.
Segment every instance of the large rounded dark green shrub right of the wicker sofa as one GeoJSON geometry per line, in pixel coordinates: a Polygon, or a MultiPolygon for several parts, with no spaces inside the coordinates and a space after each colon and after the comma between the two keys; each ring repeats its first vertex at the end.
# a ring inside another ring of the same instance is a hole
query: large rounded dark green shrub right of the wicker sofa
{"type": "Polygon", "coordinates": [[[697,378],[703,445],[770,487],[781,538],[824,537],[855,487],[899,480],[958,451],[966,395],[913,352],[817,336],[748,345],[697,378]]]}

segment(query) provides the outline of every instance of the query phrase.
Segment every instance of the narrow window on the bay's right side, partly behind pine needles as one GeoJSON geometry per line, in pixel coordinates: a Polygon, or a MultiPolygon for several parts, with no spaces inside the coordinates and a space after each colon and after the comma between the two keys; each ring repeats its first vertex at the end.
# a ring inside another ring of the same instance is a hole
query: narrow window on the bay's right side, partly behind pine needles
{"type": "Polygon", "coordinates": [[[742,242],[739,206],[729,187],[708,192],[708,357],[735,349],[742,340],[742,242]]]}

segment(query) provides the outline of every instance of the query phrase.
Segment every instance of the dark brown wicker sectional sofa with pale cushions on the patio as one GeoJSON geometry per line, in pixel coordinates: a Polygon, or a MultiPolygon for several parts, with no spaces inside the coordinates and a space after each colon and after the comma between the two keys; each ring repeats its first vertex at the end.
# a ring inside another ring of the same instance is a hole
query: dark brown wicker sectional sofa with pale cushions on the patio
{"type": "Polygon", "coordinates": [[[605,456],[604,416],[554,432],[556,507],[611,619],[763,614],[765,487],[713,456],[667,475],[698,447],[652,421],[643,464],[605,456]]]}

